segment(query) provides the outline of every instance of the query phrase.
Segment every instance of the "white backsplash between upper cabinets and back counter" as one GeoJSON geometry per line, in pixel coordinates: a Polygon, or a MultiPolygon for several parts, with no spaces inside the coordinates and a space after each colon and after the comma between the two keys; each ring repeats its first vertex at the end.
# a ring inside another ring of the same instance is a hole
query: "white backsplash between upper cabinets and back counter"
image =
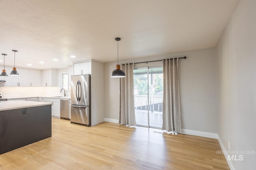
{"type": "MultiPolygon", "coordinates": [[[[39,97],[39,96],[64,96],[59,87],[0,87],[2,98],[39,97]]],[[[66,91],[70,96],[70,91],[66,91]]]]}

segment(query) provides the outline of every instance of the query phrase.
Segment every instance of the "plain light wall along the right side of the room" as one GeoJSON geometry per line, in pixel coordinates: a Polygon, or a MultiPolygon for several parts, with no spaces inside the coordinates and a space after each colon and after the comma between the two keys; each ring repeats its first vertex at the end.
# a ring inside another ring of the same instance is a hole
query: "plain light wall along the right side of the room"
{"type": "MultiPolygon", "coordinates": [[[[218,135],[222,149],[256,150],[256,1],[240,0],[216,47],[218,135]]],[[[254,169],[244,154],[231,169],[254,169]],[[233,167],[234,166],[234,167],[233,167]]]]}

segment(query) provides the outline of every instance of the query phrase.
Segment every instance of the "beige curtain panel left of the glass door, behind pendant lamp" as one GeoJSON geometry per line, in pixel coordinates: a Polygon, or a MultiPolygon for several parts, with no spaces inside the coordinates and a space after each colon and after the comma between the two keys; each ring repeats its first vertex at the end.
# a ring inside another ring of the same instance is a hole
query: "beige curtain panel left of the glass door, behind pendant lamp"
{"type": "Polygon", "coordinates": [[[134,109],[133,63],[121,64],[125,77],[120,78],[120,110],[119,123],[121,125],[136,126],[134,109]]]}

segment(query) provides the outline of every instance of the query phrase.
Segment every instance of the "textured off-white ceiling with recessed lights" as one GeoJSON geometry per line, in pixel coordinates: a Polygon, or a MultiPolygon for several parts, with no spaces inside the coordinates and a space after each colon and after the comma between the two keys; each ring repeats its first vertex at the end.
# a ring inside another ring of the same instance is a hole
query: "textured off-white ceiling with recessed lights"
{"type": "Polygon", "coordinates": [[[14,49],[17,67],[64,68],[87,59],[116,61],[115,37],[120,60],[215,47],[237,3],[0,0],[0,53],[7,54],[6,65],[13,65],[14,49]]]}

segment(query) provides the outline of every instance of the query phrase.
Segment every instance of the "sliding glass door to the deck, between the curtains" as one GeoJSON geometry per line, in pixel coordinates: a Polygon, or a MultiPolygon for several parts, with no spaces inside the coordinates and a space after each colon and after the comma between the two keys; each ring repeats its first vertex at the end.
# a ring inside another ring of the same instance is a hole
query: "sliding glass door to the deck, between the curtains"
{"type": "Polygon", "coordinates": [[[137,125],[162,128],[162,67],[134,69],[134,106],[137,125]]]}

